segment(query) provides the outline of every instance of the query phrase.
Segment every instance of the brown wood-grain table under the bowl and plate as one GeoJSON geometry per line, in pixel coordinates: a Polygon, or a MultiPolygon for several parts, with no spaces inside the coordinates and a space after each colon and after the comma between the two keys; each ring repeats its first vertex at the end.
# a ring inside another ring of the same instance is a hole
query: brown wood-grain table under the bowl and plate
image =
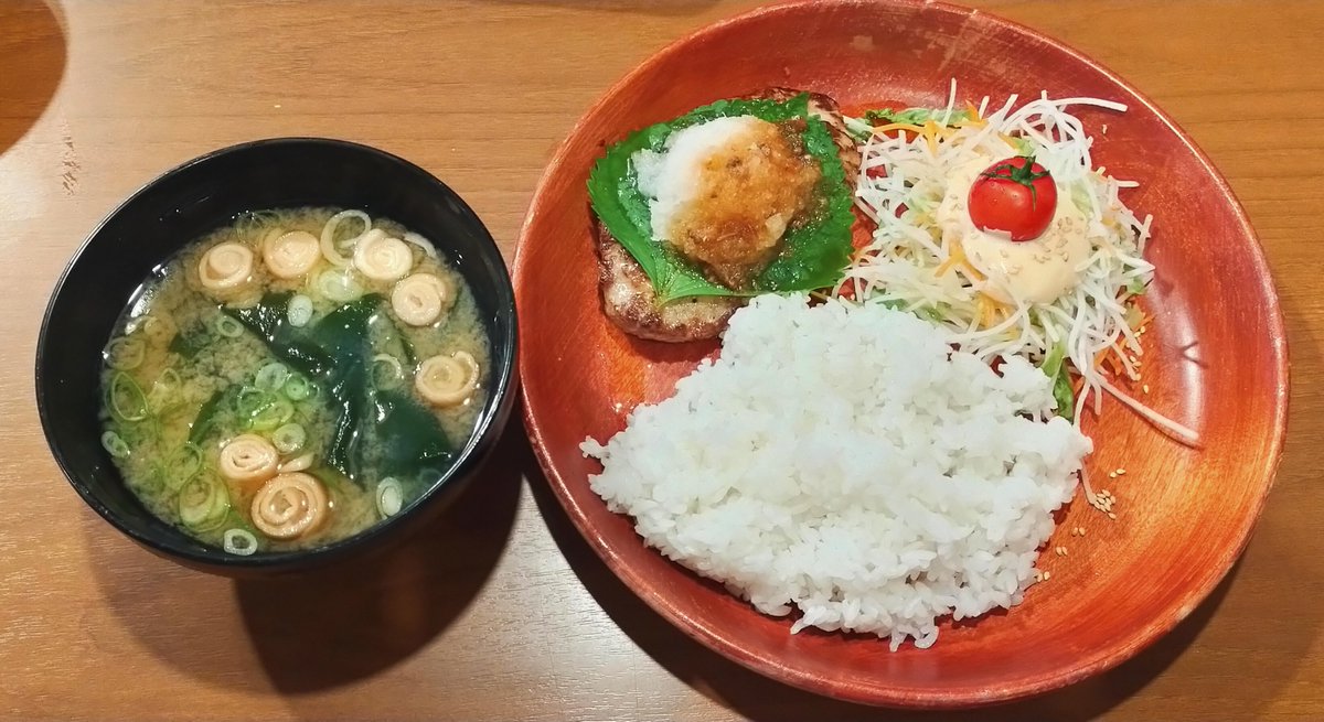
{"type": "MultiPolygon", "coordinates": [[[[139,549],[69,488],[37,422],[46,295],[162,171],[261,136],[365,141],[450,182],[510,258],[579,114],[661,45],[753,4],[0,0],[0,714],[910,718],[780,686],[670,628],[568,525],[518,422],[483,483],[387,563],[302,583],[139,549]]],[[[1268,253],[1295,373],[1278,485],[1213,598],[1112,673],[961,718],[1324,718],[1324,4],[973,4],[1100,60],[1209,152],[1268,253]]]]}

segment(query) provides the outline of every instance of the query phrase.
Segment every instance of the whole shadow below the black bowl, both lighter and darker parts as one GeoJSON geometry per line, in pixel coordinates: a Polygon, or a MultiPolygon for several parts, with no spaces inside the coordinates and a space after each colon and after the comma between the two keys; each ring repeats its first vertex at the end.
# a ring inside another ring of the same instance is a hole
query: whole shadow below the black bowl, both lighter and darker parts
{"type": "Polygon", "coordinates": [[[208,684],[298,696],[371,677],[442,633],[487,583],[519,508],[522,435],[510,424],[437,518],[379,553],[230,581],[146,553],[110,558],[90,541],[103,596],[147,649],[208,684]]]}

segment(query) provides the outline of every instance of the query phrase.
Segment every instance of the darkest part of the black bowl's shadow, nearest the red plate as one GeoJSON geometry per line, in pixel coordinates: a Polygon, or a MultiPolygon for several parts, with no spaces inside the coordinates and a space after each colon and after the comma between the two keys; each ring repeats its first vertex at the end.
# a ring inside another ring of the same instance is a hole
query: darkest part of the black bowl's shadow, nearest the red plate
{"type": "Polygon", "coordinates": [[[519,506],[506,428],[478,479],[402,545],[310,574],[236,582],[253,647],[275,689],[306,693],[371,677],[445,631],[504,553],[519,506]]]}

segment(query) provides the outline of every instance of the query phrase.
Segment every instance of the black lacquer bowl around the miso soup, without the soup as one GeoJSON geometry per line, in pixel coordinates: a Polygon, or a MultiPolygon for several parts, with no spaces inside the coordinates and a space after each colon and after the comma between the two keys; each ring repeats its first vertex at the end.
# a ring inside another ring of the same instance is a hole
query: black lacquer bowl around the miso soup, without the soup
{"type": "Polygon", "coordinates": [[[479,476],[515,399],[516,324],[510,275],[482,221],[454,190],[393,155],[311,138],[257,140],[192,160],[147,184],[87,238],[56,284],[37,340],[37,407],[56,461],[82,499],[147,549],[226,575],[307,569],[381,549],[445,508],[479,476]],[[371,529],[318,549],[226,554],[152,516],[101,446],[101,352],[115,320],[152,270],[245,210],[363,209],[430,239],[463,274],[491,344],[487,402],[454,465],[412,505],[371,529]]]}

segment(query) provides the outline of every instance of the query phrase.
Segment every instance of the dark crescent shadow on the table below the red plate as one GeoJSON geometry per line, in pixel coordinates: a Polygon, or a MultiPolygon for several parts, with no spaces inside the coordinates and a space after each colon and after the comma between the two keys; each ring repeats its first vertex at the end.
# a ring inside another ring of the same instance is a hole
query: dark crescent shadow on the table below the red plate
{"type": "Polygon", "coordinates": [[[953,719],[960,722],[1083,722],[1107,713],[1144,689],[1200,635],[1222,603],[1237,569],[1169,635],[1116,669],[1033,700],[964,713],[886,710],[830,700],[751,672],[671,627],[649,608],[593,553],[556,501],[545,477],[531,464],[526,473],[548,530],[593,599],[646,655],[677,678],[736,714],[757,721],[953,719]]]}

